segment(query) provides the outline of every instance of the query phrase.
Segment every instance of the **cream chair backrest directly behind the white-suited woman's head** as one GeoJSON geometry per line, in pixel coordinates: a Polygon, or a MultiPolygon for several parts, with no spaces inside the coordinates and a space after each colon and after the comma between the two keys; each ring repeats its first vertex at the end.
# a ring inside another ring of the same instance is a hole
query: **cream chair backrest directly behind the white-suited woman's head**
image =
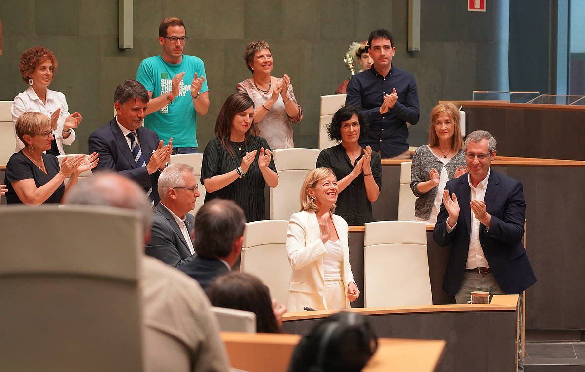
{"type": "Polygon", "coordinates": [[[274,150],[278,186],[270,189],[270,219],[288,220],[301,208],[299,195],[305,177],[315,169],[319,150],[283,148],[274,150]]]}

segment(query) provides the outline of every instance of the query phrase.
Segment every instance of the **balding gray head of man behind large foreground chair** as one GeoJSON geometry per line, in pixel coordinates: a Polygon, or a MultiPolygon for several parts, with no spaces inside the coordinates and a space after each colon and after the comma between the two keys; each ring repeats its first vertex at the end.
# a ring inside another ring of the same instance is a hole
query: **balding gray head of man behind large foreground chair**
{"type": "Polygon", "coordinates": [[[144,234],[150,234],[152,210],[146,193],[135,182],[116,173],[99,173],[84,179],[67,193],[65,203],[137,211],[142,217],[144,234]]]}

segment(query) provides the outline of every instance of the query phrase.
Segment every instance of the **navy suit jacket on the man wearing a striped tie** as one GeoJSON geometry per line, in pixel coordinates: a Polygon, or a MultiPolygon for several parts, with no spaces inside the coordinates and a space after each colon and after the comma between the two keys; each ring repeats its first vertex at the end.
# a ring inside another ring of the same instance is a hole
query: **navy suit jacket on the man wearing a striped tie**
{"type": "MultiPolygon", "coordinates": [[[[159,135],[144,127],[138,128],[136,133],[138,134],[142,157],[144,162],[148,164],[150,155],[159,147],[159,135]]],[[[115,117],[108,124],[92,133],[88,144],[90,154],[94,151],[99,154],[99,162],[92,169],[93,173],[100,171],[118,172],[122,176],[135,180],[144,188],[152,187],[154,205],[156,206],[159,203],[158,182],[160,172],[156,171],[149,175],[146,171],[146,166],[136,166],[132,152],[128,147],[128,141],[122,134],[115,117]]]]}

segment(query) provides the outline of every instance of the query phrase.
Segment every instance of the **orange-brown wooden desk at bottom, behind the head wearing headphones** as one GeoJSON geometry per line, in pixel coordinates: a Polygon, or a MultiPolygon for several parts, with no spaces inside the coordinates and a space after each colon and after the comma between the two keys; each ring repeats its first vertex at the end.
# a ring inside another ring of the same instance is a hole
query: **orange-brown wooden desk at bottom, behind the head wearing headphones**
{"type": "MultiPolygon", "coordinates": [[[[222,332],[230,365],[253,372],[286,371],[300,335],[275,333],[222,332]]],[[[443,340],[378,339],[378,350],[363,368],[364,372],[435,370],[443,340]]]]}

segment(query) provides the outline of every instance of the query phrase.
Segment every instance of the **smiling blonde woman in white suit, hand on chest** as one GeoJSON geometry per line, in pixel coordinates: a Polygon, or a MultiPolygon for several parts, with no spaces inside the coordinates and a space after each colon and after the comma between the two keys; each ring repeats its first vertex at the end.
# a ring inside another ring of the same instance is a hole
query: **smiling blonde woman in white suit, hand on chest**
{"type": "Polygon", "coordinates": [[[302,184],[301,211],[288,221],[288,311],[349,308],[360,295],[349,265],[347,222],[333,214],[338,193],[329,168],[315,169],[302,184]]]}

